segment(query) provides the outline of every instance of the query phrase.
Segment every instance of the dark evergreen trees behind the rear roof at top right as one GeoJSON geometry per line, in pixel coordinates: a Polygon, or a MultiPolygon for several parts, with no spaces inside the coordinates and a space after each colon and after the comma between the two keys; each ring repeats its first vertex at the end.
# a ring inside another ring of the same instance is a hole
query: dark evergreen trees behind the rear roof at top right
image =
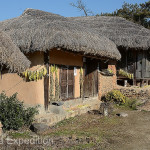
{"type": "Polygon", "coordinates": [[[129,4],[124,2],[121,9],[113,13],[101,13],[101,16],[120,16],[127,20],[150,28],[150,0],[141,4],[129,4]]]}

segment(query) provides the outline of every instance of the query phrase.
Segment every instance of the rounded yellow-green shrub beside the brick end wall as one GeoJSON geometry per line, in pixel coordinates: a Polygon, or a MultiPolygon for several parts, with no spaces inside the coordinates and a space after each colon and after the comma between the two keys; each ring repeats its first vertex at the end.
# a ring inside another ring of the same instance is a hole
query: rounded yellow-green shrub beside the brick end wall
{"type": "Polygon", "coordinates": [[[112,90],[104,96],[103,100],[105,102],[114,102],[120,105],[125,103],[126,97],[120,91],[112,90]]]}

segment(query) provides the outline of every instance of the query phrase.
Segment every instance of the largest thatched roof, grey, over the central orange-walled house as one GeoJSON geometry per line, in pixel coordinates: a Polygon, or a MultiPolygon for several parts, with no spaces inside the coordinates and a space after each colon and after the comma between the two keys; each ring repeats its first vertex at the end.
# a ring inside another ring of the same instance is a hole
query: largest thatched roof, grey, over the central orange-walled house
{"type": "Polygon", "coordinates": [[[0,22],[0,29],[7,32],[23,52],[60,47],[112,59],[121,57],[108,38],[68,18],[40,10],[27,9],[20,17],[0,22]]]}

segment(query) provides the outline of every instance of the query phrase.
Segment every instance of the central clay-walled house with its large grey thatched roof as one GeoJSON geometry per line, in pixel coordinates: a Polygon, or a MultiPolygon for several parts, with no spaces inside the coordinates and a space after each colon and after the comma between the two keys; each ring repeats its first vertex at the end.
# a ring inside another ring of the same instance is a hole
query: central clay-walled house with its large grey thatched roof
{"type": "Polygon", "coordinates": [[[42,104],[47,109],[51,101],[98,97],[116,85],[115,65],[121,55],[116,44],[96,30],[34,9],[0,22],[0,29],[31,61],[28,82],[20,83],[21,77],[17,75],[4,75],[0,91],[12,89],[6,82],[12,83],[17,86],[9,94],[18,92],[26,103],[42,104]],[[47,70],[46,76],[41,75],[43,68],[47,70]],[[105,70],[105,78],[101,78],[99,70],[105,70]]]}

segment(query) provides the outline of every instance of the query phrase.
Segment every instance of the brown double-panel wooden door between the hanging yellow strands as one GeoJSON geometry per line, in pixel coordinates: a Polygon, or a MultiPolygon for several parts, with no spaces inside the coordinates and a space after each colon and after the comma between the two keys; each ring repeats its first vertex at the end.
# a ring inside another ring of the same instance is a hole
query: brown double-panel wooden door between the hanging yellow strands
{"type": "Polygon", "coordinates": [[[61,99],[74,98],[74,70],[71,67],[62,67],[60,71],[61,99]]]}

